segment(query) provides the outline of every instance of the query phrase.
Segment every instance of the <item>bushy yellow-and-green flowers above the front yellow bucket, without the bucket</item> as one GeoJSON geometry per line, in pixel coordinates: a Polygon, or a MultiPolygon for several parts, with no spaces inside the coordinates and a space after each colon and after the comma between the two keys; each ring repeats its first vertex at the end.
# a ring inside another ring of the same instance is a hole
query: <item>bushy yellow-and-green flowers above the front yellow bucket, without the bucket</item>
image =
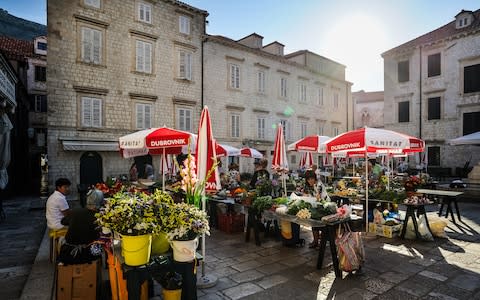
{"type": "Polygon", "coordinates": [[[105,200],[95,214],[97,223],[123,235],[142,235],[159,232],[155,205],[149,195],[116,193],[105,200]]]}

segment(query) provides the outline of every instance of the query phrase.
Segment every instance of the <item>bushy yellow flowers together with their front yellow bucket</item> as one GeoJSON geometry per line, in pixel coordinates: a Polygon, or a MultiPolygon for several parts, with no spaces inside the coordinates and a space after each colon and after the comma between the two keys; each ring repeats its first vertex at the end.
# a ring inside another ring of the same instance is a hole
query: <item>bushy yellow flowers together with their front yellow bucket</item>
{"type": "Polygon", "coordinates": [[[105,206],[95,216],[104,232],[120,234],[127,265],[139,266],[150,260],[152,233],[160,227],[154,201],[148,195],[116,193],[105,200],[105,206]]]}

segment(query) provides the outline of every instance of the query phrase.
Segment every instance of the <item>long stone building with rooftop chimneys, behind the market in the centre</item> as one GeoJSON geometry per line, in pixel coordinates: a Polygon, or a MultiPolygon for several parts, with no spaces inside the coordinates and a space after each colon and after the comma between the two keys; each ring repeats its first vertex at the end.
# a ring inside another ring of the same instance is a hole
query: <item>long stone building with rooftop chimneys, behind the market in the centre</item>
{"type": "MultiPolygon", "coordinates": [[[[204,53],[205,104],[219,142],[256,148],[271,161],[278,123],[287,143],[353,128],[352,84],[344,65],[308,50],[285,54],[283,44],[263,45],[256,33],[237,41],[209,35],[204,53]]],[[[296,168],[300,155],[288,157],[296,168]]],[[[253,171],[253,160],[236,160],[241,171],[253,171]]]]}

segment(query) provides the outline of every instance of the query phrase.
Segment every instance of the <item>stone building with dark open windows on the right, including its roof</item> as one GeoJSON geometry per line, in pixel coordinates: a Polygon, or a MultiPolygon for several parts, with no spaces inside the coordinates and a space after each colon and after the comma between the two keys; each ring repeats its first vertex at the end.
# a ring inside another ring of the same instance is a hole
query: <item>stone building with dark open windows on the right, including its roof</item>
{"type": "Polygon", "coordinates": [[[462,10],[448,24],[382,57],[385,128],[424,139],[429,168],[453,173],[478,162],[475,146],[448,141],[480,131],[480,10],[462,10]]]}

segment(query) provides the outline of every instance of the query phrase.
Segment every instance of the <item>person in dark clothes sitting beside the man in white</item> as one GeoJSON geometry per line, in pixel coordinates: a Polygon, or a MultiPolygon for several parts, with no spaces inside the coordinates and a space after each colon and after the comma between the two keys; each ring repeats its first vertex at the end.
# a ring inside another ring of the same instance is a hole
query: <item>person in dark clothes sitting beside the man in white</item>
{"type": "Polygon", "coordinates": [[[103,205],[103,193],[91,189],[87,193],[85,208],[75,208],[70,215],[62,219],[62,224],[68,226],[65,244],[60,249],[58,260],[65,264],[81,264],[98,258],[98,253],[92,251],[94,241],[100,236],[96,224],[95,213],[103,205]]]}

